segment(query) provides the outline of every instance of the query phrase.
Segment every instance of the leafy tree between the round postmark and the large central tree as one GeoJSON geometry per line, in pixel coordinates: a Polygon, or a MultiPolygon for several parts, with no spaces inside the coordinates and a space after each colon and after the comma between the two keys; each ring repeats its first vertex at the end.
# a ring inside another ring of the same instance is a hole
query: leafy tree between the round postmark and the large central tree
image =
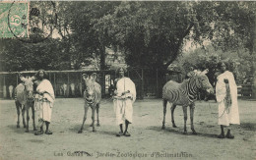
{"type": "Polygon", "coordinates": [[[101,17],[111,14],[118,4],[119,2],[59,2],[60,6],[64,6],[58,14],[59,24],[63,22],[69,46],[74,46],[76,50],[72,57],[77,63],[99,57],[100,69],[105,69],[105,47],[110,43],[108,37],[102,36],[95,26],[101,17]]]}

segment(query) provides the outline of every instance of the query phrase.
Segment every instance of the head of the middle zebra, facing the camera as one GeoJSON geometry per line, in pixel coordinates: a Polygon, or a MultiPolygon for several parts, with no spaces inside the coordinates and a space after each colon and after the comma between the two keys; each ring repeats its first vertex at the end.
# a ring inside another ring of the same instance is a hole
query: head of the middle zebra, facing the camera
{"type": "Polygon", "coordinates": [[[84,98],[88,103],[92,104],[95,102],[96,99],[96,73],[92,74],[91,76],[83,74],[83,80],[85,80],[86,83],[84,98]]]}

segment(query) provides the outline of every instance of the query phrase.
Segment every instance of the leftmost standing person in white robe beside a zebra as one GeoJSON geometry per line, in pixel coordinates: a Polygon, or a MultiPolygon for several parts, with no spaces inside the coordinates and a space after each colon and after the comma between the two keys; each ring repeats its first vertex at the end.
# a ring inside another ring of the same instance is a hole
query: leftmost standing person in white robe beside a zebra
{"type": "Polygon", "coordinates": [[[51,121],[51,112],[53,107],[53,102],[55,100],[54,91],[52,84],[49,80],[46,79],[47,75],[45,71],[39,70],[35,75],[36,93],[34,97],[34,107],[36,110],[36,115],[38,118],[37,127],[40,128],[40,131],[34,133],[39,135],[43,133],[43,124],[46,125],[46,134],[52,134],[49,131],[49,124],[51,121]]]}

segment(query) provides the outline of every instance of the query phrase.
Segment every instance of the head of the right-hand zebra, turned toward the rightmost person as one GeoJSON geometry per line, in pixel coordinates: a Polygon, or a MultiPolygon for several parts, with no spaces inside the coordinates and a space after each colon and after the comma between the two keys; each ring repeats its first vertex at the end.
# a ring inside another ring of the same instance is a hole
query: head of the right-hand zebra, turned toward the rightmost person
{"type": "Polygon", "coordinates": [[[206,76],[207,73],[208,73],[208,70],[205,70],[202,73],[197,74],[196,85],[198,88],[202,90],[206,90],[208,93],[213,94],[214,88],[210,83],[208,77],[206,76]]]}

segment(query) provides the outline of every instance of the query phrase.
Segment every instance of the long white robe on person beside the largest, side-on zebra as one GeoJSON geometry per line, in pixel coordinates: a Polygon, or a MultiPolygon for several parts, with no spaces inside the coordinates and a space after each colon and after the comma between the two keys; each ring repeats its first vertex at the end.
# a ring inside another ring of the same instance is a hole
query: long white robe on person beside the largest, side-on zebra
{"type": "Polygon", "coordinates": [[[235,83],[233,74],[225,71],[218,78],[216,84],[216,98],[219,103],[219,125],[229,126],[229,124],[240,124],[238,103],[237,103],[237,85],[235,83]],[[231,105],[226,109],[225,106],[225,95],[226,88],[224,79],[228,80],[230,88],[231,105]]]}

